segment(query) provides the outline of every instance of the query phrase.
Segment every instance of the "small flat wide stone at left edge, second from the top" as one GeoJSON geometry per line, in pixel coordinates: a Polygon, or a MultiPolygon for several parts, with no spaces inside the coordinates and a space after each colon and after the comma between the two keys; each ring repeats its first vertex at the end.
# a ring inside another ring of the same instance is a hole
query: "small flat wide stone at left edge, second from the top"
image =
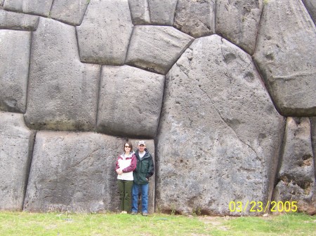
{"type": "Polygon", "coordinates": [[[33,31],[37,29],[38,16],[8,12],[0,9],[0,29],[33,31]]]}

